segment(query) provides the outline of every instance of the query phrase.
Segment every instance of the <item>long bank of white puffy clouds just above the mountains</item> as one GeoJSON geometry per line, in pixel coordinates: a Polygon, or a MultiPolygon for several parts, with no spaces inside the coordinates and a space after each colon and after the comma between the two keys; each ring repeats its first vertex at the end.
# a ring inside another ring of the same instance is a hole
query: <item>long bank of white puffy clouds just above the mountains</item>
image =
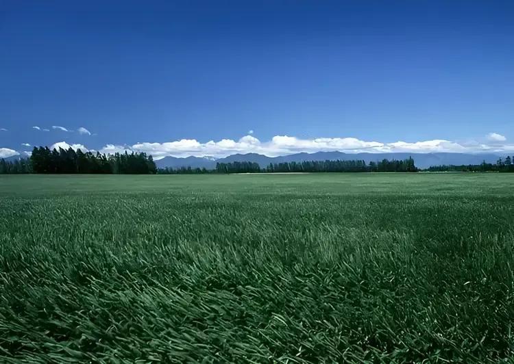
{"type": "MultiPolygon", "coordinates": [[[[82,151],[97,151],[83,144],[57,142],[53,148],[73,148],[82,151]]],[[[10,157],[18,152],[1,148],[0,157],[10,157]]],[[[275,135],[267,142],[261,142],[254,135],[245,135],[239,140],[222,139],[199,142],[195,139],[181,139],[172,142],[143,142],[133,145],[106,144],[100,153],[114,154],[145,152],[155,159],[171,157],[226,157],[236,153],[258,153],[269,157],[293,153],[316,153],[322,151],[341,151],[345,153],[511,153],[514,144],[506,142],[504,135],[489,133],[479,140],[455,142],[450,140],[425,140],[420,142],[383,143],[365,141],[357,138],[314,138],[301,139],[289,135],[275,135]]]]}

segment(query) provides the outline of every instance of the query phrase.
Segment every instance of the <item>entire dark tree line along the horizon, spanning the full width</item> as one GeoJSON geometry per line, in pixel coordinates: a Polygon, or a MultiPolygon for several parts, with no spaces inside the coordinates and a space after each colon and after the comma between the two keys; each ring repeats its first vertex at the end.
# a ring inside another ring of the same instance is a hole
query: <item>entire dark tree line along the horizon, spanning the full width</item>
{"type": "MultiPolygon", "coordinates": [[[[498,159],[496,164],[485,161],[478,165],[431,166],[428,172],[514,172],[514,156],[498,159]]],[[[256,162],[234,161],[217,163],[214,170],[206,168],[157,168],[154,159],[146,153],[99,152],[83,153],[80,149],[34,147],[29,158],[6,161],[0,159],[0,174],[47,173],[47,174],[206,174],[206,173],[273,173],[273,172],[418,172],[414,159],[370,161],[326,160],[269,164],[261,168],[256,162]]]]}

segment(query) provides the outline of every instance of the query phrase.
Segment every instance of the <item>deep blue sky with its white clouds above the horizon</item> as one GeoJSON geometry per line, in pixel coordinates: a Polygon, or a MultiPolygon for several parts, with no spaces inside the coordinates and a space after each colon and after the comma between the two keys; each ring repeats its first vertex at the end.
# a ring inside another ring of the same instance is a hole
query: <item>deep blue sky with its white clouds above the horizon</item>
{"type": "Polygon", "coordinates": [[[514,151],[513,18],[512,1],[3,1],[0,148],[514,151]]]}

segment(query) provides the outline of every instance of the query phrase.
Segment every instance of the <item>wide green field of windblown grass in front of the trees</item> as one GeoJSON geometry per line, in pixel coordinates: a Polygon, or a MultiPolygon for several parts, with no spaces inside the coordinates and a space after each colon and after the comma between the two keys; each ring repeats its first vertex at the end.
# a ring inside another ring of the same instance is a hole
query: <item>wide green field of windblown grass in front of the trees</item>
{"type": "Polygon", "coordinates": [[[496,362],[514,176],[1,176],[0,361],[496,362]]]}

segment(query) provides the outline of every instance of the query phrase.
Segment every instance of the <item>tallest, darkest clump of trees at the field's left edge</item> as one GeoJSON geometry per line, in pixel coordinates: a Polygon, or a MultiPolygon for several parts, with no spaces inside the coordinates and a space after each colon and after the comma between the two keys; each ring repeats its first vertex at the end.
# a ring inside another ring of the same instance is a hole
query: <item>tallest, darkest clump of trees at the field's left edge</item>
{"type": "Polygon", "coordinates": [[[85,173],[85,174],[154,174],[154,159],[146,153],[82,152],[73,148],[34,147],[27,159],[0,161],[0,173],[85,173]]]}

